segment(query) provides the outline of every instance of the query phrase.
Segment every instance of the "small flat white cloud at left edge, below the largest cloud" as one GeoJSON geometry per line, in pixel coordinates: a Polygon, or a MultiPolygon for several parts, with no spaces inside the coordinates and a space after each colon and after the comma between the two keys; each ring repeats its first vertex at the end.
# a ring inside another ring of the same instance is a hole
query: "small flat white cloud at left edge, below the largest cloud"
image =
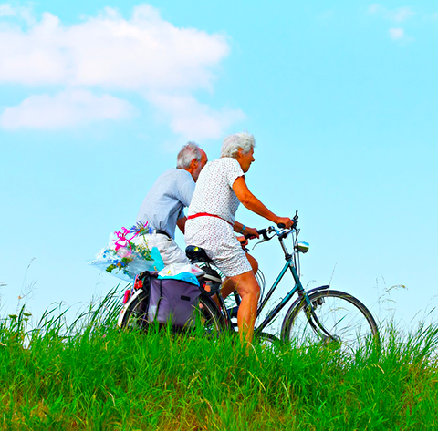
{"type": "Polygon", "coordinates": [[[68,89],[56,96],[30,96],[16,107],[6,108],[0,116],[0,126],[8,130],[71,128],[96,120],[130,118],[134,114],[135,108],[120,98],[68,89]]]}

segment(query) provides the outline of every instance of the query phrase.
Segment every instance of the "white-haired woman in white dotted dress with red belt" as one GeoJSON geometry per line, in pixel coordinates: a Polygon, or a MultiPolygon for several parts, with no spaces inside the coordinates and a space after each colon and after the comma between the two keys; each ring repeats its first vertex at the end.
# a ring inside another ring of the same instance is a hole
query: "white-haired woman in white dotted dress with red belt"
{"type": "Polygon", "coordinates": [[[245,172],[254,159],[255,140],[249,133],[236,133],[224,139],[221,158],[208,163],[199,175],[185,225],[185,242],[202,247],[226,279],[224,296],[235,289],[242,298],[237,313],[241,340],[251,342],[260,288],[235,232],[258,238],[255,228],[235,221],[242,202],[248,210],[272,221],[292,225],[288,217],[278,217],[248,190],[245,172]]]}

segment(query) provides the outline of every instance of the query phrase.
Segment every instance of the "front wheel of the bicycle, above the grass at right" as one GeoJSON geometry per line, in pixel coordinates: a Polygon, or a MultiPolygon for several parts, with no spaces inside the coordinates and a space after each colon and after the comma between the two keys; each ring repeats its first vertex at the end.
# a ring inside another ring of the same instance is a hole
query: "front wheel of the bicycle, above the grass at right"
{"type": "Polygon", "coordinates": [[[312,328],[304,300],[297,300],[287,311],[281,336],[297,347],[336,342],[343,352],[356,352],[379,344],[379,330],[368,308],[346,292],[323,290],[308,296],[318,320],[332,337],[323,337],[312,328]]]}

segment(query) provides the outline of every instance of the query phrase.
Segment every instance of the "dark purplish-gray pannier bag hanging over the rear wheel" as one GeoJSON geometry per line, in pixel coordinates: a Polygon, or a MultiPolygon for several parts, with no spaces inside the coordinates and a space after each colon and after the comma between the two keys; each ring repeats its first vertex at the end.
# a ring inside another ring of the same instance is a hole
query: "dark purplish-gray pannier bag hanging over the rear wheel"
{"type": "Polygon", "coordinates": [[[149,272],[149,322],[168,323],[173,326],[193,324],[194,307],[201,294],[198,286],[190,282],[158,279],[157,272],[149,272]]]}

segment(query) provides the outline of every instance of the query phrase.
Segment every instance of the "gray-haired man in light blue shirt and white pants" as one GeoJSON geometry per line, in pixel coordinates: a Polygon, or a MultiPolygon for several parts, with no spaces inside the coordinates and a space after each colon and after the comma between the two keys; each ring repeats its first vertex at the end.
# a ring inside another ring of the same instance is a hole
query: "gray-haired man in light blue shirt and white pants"
{"type": "Polygon", "coordinates": [[[188,207],[194,183],[207,163],[207,155],[194,142],[188,142],[178,153],[176,168],[166,170],[153,184],[144,198],[137,221],[149,222],[152,229],[147,236],[149,248],[157,247],[165,265],[187,263],[183,250],[174,241],[176,226],[184,233],[188,207]]]}

